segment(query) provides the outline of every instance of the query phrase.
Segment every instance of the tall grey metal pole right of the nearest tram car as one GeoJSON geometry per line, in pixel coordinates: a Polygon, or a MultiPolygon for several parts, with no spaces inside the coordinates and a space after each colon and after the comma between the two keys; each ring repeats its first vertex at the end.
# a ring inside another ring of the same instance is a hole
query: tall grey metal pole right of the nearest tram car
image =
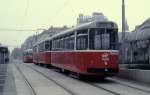
{"type": "Polygon", "coordinates": [[[122,63],[125,63],[125,2],[122,0],[122,63]]]}

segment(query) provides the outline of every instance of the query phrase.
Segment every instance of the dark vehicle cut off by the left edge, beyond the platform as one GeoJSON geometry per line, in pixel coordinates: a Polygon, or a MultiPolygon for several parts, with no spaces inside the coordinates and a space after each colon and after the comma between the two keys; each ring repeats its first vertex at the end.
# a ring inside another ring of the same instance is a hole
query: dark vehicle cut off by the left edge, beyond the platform
{"type": "Polygon", "coordinates": [[[0,64],[9,62],[9,50],[8,47],[0,46],[0,64]]]}

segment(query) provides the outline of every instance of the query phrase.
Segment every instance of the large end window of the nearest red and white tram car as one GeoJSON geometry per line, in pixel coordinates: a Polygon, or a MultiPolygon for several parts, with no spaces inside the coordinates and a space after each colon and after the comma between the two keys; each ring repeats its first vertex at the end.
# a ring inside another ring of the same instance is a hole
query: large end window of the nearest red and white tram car
{"type": "Polygon", "coordinates": [[[89,41],[91,50],[116,50],[118,43],[117,29],[90,29],[89,41]]]}

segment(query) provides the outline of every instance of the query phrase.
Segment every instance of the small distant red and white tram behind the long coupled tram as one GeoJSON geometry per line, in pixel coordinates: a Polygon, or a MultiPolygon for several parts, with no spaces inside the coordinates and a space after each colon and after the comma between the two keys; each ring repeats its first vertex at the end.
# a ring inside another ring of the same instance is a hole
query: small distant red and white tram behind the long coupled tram
{"type": "Polygon", "coordinates": [[[23,62],[32,63],[33,62],[33,50],[27,49],[23,51],[23,62]]]}

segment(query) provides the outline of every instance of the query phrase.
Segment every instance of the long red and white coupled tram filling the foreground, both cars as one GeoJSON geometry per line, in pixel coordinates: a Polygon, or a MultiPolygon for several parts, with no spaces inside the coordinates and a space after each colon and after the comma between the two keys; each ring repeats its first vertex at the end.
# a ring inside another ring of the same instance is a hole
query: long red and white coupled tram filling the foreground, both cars
{"type": "Polygon", "coordinates": [[[117,24],[94,21],[78,25],[41,41],[34,54],[35,63],[48,62],[65,73],[113,76],[118,73],[117,24]]]}

